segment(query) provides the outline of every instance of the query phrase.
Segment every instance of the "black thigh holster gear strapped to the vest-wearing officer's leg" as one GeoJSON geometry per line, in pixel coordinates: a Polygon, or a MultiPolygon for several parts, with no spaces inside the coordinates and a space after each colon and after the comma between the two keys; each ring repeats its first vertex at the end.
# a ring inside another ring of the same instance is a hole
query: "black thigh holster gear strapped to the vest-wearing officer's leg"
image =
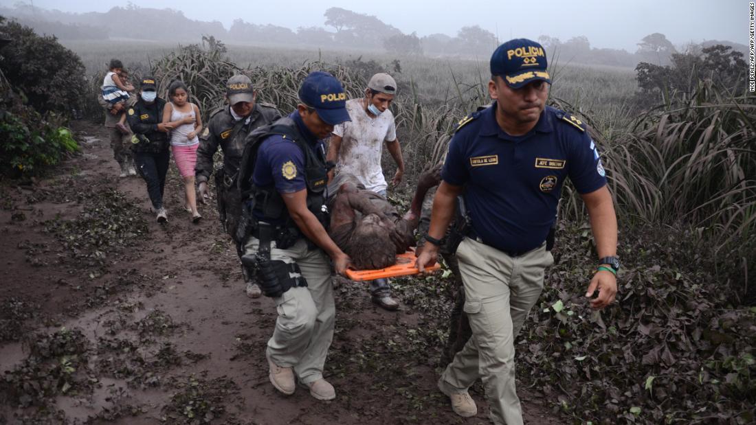
{"type": "MultiPolygon", "coordinates": [[[[297,263],[271,260],[271,242],[279,236],[279,231],[280,228],[277,226],[258,223],[252,232],[252,235],[259,240],[257,251],[241,257],[243,266],[250,275],[256,276],[262,293],[266,297],[280,297],[291,288],[307,286],[307,280],[302,276],[302,270],[299,269],[297,263]]],[[[277,240],[276,248],[285,249],[278,246],[277,240]]]]}

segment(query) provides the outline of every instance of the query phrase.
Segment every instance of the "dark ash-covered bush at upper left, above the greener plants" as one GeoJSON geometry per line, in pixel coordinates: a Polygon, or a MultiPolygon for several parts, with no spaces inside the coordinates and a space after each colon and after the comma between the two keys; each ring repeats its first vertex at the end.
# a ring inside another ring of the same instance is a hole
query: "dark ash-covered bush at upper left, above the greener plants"
{"type": "Polygon", "coordinates": [[[5,78],[39,112],[70,114],[82,103],[84,65],[79,57],[57,42],[37,35],[28,26],[0,17],[0,33],[11,42],[0,48],[0,69],[5,78]]]}

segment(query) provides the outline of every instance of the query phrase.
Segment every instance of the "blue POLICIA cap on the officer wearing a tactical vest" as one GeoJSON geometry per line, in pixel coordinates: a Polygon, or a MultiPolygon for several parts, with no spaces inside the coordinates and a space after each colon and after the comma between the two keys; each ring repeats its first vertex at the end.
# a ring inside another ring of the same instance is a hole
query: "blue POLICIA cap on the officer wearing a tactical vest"
{"type": "Polygon", "coordinates": [[[299,100],[314,108],[318,116],[330,125],[349,119],[346,112],[346,93],[339,80],[328,72],[310,72],[299,87],[299,100]]]}

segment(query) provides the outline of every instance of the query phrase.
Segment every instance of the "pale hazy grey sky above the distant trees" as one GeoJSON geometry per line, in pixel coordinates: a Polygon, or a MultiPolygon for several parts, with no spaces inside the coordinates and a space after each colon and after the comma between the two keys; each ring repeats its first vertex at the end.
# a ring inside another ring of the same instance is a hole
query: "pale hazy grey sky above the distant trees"
{"type": "MultiPolygon", "coordinates": [[[[0,0],[10,7],[17,0],[0,0]]],[[[23,0],[34,6],[61,11],[108,11],[128,2],[113,0],[23,0]]],[[[595,48],[624,48],[635,51],[636,43],[652,32],[662,32],[675,45],[705,39],[748,43],[748,0],[519,0],[460,2],[460,0],[373,2],[327,0],[133,0],[141,8],[172,8],[193,20],[218,20],[226,29],[235,19],[250,23],[272,23],[296,29],[324,26],[327,8],[339,7],[370,14],[402,32],[456,35],[462,26],[479,25],[509,38],[538,38],[551,35],[567,41],[585,35],[595,48]]],[[[123,26],[128,29],[128,24],[123,26]]]]}

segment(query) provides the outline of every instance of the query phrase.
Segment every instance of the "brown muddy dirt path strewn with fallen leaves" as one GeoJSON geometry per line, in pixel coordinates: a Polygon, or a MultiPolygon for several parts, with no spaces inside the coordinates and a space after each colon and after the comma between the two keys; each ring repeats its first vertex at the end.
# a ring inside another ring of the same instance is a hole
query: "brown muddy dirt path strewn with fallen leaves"
{"type": "MultiPolygon", "coordinates": [[[[75,126],[83,154],[33,186],[0,186],[0,423],[488,423],[438,393],[443,282],[398,280],[402,309],[376,309],[336,279],[326,377],[333,402],[268,383],[270,300],[243,294],[212,206],[193,225],[169,172],[169,223],[144,182],[119,179],[102,128],[75,126]]],[[[524,387],[521,384],[521,387],[524,387]]],[[[520,390],[526,423],[560,423],[520,390]]]]}

